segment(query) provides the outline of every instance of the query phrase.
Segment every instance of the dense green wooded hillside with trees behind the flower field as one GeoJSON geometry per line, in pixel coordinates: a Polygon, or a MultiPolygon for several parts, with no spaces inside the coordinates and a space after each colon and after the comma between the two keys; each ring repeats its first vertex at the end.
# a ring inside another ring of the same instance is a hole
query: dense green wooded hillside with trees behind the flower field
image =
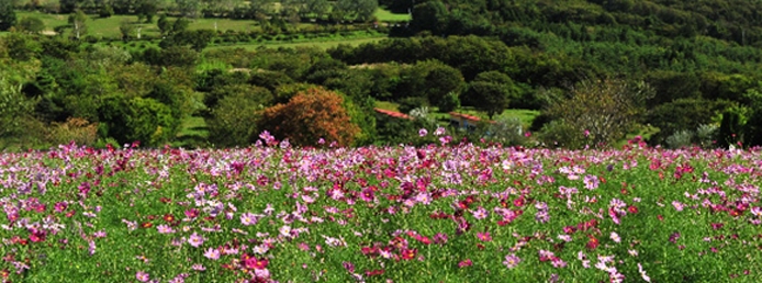
{"type": "Polygon", "coordinates": [[[669,147],[762,145],[760,11],[743,0],[2,1],[0,148],[233,147],[262,131],[299,146],[423,144],[438,137],[418,129],[439,126],[456,140],[523,146],[639,134],[669,147]],[[378,7],[412,20],[379,23],[378,7]],[[30,11],[67,22],[18,16],[30,11]],[[88,19],[115,15],[159,33],[87,34],[88,19]],[[209,18],[260,29],[188,27],[209,18]],[[389,38],[209,48],[362,30],[389,38]],[[511,110],[540,114],[522,123],[511,110]],[[451,111],[494,122],[460,128],[451,111]]]}

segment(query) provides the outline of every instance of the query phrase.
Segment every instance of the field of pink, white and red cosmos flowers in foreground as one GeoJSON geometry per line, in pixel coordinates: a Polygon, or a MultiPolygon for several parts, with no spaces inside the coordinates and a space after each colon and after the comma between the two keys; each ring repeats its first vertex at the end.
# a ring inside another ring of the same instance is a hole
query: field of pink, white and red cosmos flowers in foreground
{"type": "MultiPolygon", "coordinates": [[[[10,282],[760,282],[757,150],[0,156],[10,282]]],[[[444,145],[447,144],[447,145],[444,145]]]]}

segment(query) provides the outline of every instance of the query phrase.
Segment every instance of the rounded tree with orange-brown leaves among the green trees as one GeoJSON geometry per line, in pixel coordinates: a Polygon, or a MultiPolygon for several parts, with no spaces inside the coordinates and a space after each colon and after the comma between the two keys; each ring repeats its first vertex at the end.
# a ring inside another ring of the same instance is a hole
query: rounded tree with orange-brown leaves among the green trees
{"type": "Polygon", "coordinates": [[[316,145],[321,138],[340,146],[351,145],[360,127],[350,122],[344,99],[320,87],[298,92],[287,104],[277,104],[262,113],[258,128],[295,146],[316,145]]]}

